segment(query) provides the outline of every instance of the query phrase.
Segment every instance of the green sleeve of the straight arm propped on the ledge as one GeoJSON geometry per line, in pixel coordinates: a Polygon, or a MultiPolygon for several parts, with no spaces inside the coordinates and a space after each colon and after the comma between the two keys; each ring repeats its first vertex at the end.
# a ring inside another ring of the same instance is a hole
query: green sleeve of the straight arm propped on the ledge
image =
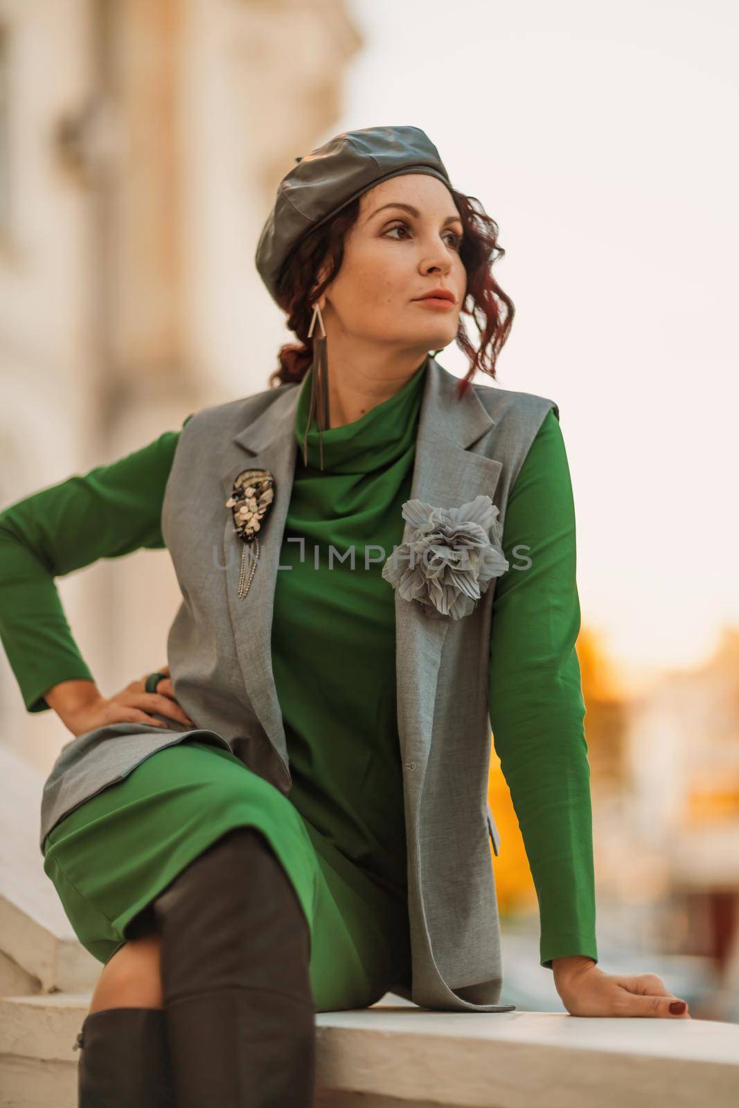
{"type": "Polygon", "coordinates": [[[597,962],[591,770],[575,642],[575,510],[551,409],[511,490],[493,598],[490,722],[540,911],[540,962],[597,962]]]}

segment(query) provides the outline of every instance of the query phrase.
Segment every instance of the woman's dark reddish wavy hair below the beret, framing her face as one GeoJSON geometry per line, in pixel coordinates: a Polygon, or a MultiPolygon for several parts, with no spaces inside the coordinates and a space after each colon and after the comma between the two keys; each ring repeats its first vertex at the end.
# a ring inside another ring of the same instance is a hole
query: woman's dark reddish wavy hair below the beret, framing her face
{"type": "MultiPolygon", "coordinates": [[[[468,276],[456,332],[456,345],[470,358],[470,369],[458,386],[461,397],[478,370],[495,378],[495,362],[509,337],[515,308],[492,274],[493,263],[505,254],[497,244],[497,224],[476,196],[466,196],[455,188],[451,193],[462,220],[460,257],[468,276]],[[468,337],[462,316],[471,316],[474,320],[480,336],[476,349],[468,337]]],[[[359,216],[359,202],[358,196],[332,219],[306,235],[283,266],[277,300],[287,312],[287,326],[300,339],[300,345],[286,342],[280,347],[279,367],[269,376],[270,386],[301,381],[312,363],[314,340],[308,338],[312,302],[331,284],[341,267],[345,236],[359,216]],[[316,274],[324,265],[327,266],[326,276],[316,287],[311,300],[310,290],[316,274]]]]}

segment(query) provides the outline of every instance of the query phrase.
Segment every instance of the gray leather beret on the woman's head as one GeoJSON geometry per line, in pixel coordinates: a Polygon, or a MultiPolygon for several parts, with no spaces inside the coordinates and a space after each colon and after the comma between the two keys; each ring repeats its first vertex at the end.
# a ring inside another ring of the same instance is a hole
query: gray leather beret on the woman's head
{"type": "Polygon", "coordinates": [[[304,157],[280,181],[255,261],[273,300],[283,265],[309,232],[380,181],[428,173],[451,188],[439,151],[420,127],[343,131],[304,157]]]}

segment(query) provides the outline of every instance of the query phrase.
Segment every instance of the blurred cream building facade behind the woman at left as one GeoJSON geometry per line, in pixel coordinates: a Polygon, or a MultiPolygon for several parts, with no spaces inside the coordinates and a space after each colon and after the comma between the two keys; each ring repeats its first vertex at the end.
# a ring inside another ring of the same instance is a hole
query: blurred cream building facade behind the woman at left
{"type": "MultiPolygon", "coordinates": [[[[360,45],[343,0],[0,0],[2,505],[267,388],[256,242],[360,45]]],[[[165,552],[58,584],[103,691],[165,663],[165,552]]],[[[70,738],[4,655],[0,721],[44,770],[70,738]]]]}

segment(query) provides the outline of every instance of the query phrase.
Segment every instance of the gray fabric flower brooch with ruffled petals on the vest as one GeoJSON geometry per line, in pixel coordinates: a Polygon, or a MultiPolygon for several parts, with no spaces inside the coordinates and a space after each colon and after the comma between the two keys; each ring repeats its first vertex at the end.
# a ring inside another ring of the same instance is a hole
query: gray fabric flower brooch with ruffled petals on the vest
{"type": "Polygon", "coordinates": [[[384,563],[384,581],[431,618],[470,615],[492,578],[509,568],[495,504],[484,495],[461,507],[407,500],[403,519],[414,530],[384,563]]]}

